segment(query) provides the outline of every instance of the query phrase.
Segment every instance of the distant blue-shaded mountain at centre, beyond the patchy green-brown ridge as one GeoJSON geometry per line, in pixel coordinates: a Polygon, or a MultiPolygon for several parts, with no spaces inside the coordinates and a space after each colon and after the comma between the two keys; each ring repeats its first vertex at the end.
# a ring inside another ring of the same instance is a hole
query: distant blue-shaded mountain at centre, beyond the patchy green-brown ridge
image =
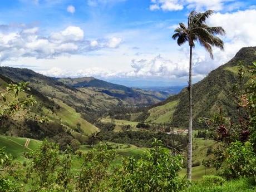
{"type": "Polygon", "coordinates": [[[65,83],[65,85],[75,87],[80,91],[83,91],[84,88],[89,88],[92,91],[105,93],[133,106],[156,104],[170,96],[168,92],[130,88],[102,81],[94,77],[60,78],[58,81],[65,83]]]}

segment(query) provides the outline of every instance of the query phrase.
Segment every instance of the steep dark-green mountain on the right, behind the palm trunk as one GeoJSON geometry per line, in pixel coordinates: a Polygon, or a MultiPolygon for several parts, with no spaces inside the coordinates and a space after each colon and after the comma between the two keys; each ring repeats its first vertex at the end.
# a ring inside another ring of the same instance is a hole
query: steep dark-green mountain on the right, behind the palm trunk
{"type": "MultiPolygon", "coordinates": [[[[219,107],[226,116],[237,119],[232,87],[238,82],[239,61],[242,61],[245,67],[256,61],[256,47],[242,48],[232,60],[211,71],[203,80],[193,85],[194,127],[202,126],[198,122],[199,117],[211,117],[219,111],[219,107]]],[[[189,119],[188,106],[188,90],[184,88],[178,95],[170,96],[152,106],[147,111],[145,121],[186,127],[189,119]]]]}

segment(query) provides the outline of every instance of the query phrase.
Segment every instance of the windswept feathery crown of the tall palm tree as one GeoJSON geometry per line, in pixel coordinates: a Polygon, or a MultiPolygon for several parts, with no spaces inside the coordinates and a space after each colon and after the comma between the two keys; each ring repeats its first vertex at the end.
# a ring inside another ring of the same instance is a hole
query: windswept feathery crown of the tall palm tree
{"type": "Polygon", "coordinates": [[[176,40],[178,38],[177,43],[179,46],[188,41],[189,46],[194,47],[194,41],[197,41],[209,52],[210,57],[213,58],[211,46],[219,47],[221,50],[224,49],[223,41],[215,35],[225,34],[222,27],[209,27],[205,23],[206,18],[213,14],[213,12],[212,10],[205,11],[204,13],[192,11],[188,17],[188,27],[183,23],[179,23],[179,27],[175,29],[173,39],[176,40]]]}

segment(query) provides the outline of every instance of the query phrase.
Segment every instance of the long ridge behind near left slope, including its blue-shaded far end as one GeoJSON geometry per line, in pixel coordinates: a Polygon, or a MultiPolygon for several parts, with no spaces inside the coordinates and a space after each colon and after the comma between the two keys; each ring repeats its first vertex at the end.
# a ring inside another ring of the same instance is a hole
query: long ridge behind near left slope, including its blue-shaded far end
{"type": "Polygon", "coordinates": [[[57,79],[26,68],[0,67],[0,74],[14,82],[29,81],[33,90],[62,101],[91,123],[113,107],[152,105],[168,96],[168,93],[129,88],[93,77],[57,79]]]}

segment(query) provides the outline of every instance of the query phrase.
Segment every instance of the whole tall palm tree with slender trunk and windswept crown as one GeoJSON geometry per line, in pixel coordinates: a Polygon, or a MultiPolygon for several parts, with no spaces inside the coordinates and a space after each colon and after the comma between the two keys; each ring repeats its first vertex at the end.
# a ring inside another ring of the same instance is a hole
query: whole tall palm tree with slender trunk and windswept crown
{"type": "Polygon", "coordinates": [[[212,46],[219,47],[223,50],[223,41],[215,35],[224,35],[225,31],[222,27],[209,27],[205,20],[213,11],[205,11],[204,13],[198,13],[192,11],[188,17],[188,26],[183,23],[179,23],[179,27],[175,29],[173,39],[177,39],[179,46],[185,42],[189,43],[190,57],[189,57],[189,130],[188,130],[188,168],[187,178],[191,180],[191,168],[192,168],[192,50],[195,47],[195,41],[209,52],[210,57],[213,59],[212,46]]]}

